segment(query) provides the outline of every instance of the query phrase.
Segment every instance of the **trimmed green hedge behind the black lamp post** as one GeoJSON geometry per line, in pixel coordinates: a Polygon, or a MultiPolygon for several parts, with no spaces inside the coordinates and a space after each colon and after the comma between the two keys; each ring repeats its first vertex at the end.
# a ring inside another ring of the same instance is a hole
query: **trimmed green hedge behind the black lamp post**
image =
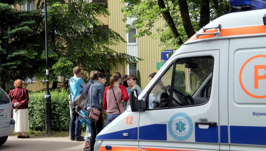
{"type": "MultiPolygon", "coordinates": [[[[30,129],[45,130],[45,95],[46,92],[29,92],[29,121],[30,129]]],[[[70,111],[68,92],[53,90],[51,93],[51,120],[53,131],[68,131],[70,111]]]]}

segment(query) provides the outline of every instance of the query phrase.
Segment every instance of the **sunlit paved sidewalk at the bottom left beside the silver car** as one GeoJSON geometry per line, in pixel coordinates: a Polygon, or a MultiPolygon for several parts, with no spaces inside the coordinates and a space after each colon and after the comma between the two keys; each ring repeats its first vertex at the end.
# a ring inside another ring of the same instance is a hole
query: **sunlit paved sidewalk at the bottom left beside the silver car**
{"type": "Polygon", "coordinates": [[[71,141],[68,137],[30,136],[30,138],[17,138],[8,136],[7,142],[0,146],[0,150],[76,150],[82,151],[85,142],[71,141]]]}

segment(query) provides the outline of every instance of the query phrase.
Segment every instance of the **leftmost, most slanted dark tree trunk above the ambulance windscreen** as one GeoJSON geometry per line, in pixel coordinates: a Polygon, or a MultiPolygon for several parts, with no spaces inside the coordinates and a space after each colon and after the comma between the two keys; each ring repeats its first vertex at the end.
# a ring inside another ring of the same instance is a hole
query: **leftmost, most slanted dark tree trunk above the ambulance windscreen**
{"type": "MultiPolygon", "coordinates": [[[[159,6],[160,9],[165,9],[166,8],[164,0],[157,0],[157,1],[158,1],[158,6],[159,6]]],[[[166,23],[167,23],[167,25],[168,25],[168,27],[170,29],[170,32],[171,32],[173,38],[174,39],[178,39],[178,42],[176,42],[175,44],[182,45],[183,41],[180,38],[179,33],[177,32],[174,20],[173,20],[173,18],[171,16],[170,12],[169,11],[164,11],[164,12],[162,12],[162,15],[163,15],[163,17],[164,17],[164,19],[165,19],[165,21],[166,21],[166,23]]]]}

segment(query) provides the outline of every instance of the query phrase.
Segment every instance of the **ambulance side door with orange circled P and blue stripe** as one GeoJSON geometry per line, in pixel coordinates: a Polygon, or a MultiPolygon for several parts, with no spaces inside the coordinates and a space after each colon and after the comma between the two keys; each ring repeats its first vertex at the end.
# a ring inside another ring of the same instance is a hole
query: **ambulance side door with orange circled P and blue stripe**
{"type": "Polygon", "coordinates": [[[266,36],[230,39],[230,150],[266,148],[266,36]]]}

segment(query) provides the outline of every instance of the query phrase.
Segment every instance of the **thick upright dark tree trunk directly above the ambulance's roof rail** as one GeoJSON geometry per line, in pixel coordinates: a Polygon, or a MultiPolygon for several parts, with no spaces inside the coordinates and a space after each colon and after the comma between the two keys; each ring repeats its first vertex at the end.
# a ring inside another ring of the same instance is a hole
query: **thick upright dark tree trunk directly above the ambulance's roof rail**
{"type": "Polygon", "coordinates": [[[210,22],[210,1],[202,0],[201,5],[202,6],[200,8],[199,28],[202,28],[210,22]]]}

